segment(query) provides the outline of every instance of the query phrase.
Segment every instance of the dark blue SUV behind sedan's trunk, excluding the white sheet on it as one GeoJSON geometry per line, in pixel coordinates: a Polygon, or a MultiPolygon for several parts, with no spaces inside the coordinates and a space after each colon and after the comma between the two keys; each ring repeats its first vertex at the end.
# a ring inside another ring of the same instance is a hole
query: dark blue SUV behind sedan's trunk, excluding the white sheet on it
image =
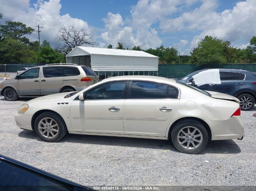
{"type": "MultiPolygon", "coordinates": [[[[195,74],[208,70],[198,70],[178,80],[185,84],[192,84],[195,74]]],[[[235,69],[219,69],[221,84],[204,84],[195,87],[205,91],[216,91],[237,97],[240,100],[241,110],[250,110],[254,107],[256,98],[256,72],[235,69]]]]}

